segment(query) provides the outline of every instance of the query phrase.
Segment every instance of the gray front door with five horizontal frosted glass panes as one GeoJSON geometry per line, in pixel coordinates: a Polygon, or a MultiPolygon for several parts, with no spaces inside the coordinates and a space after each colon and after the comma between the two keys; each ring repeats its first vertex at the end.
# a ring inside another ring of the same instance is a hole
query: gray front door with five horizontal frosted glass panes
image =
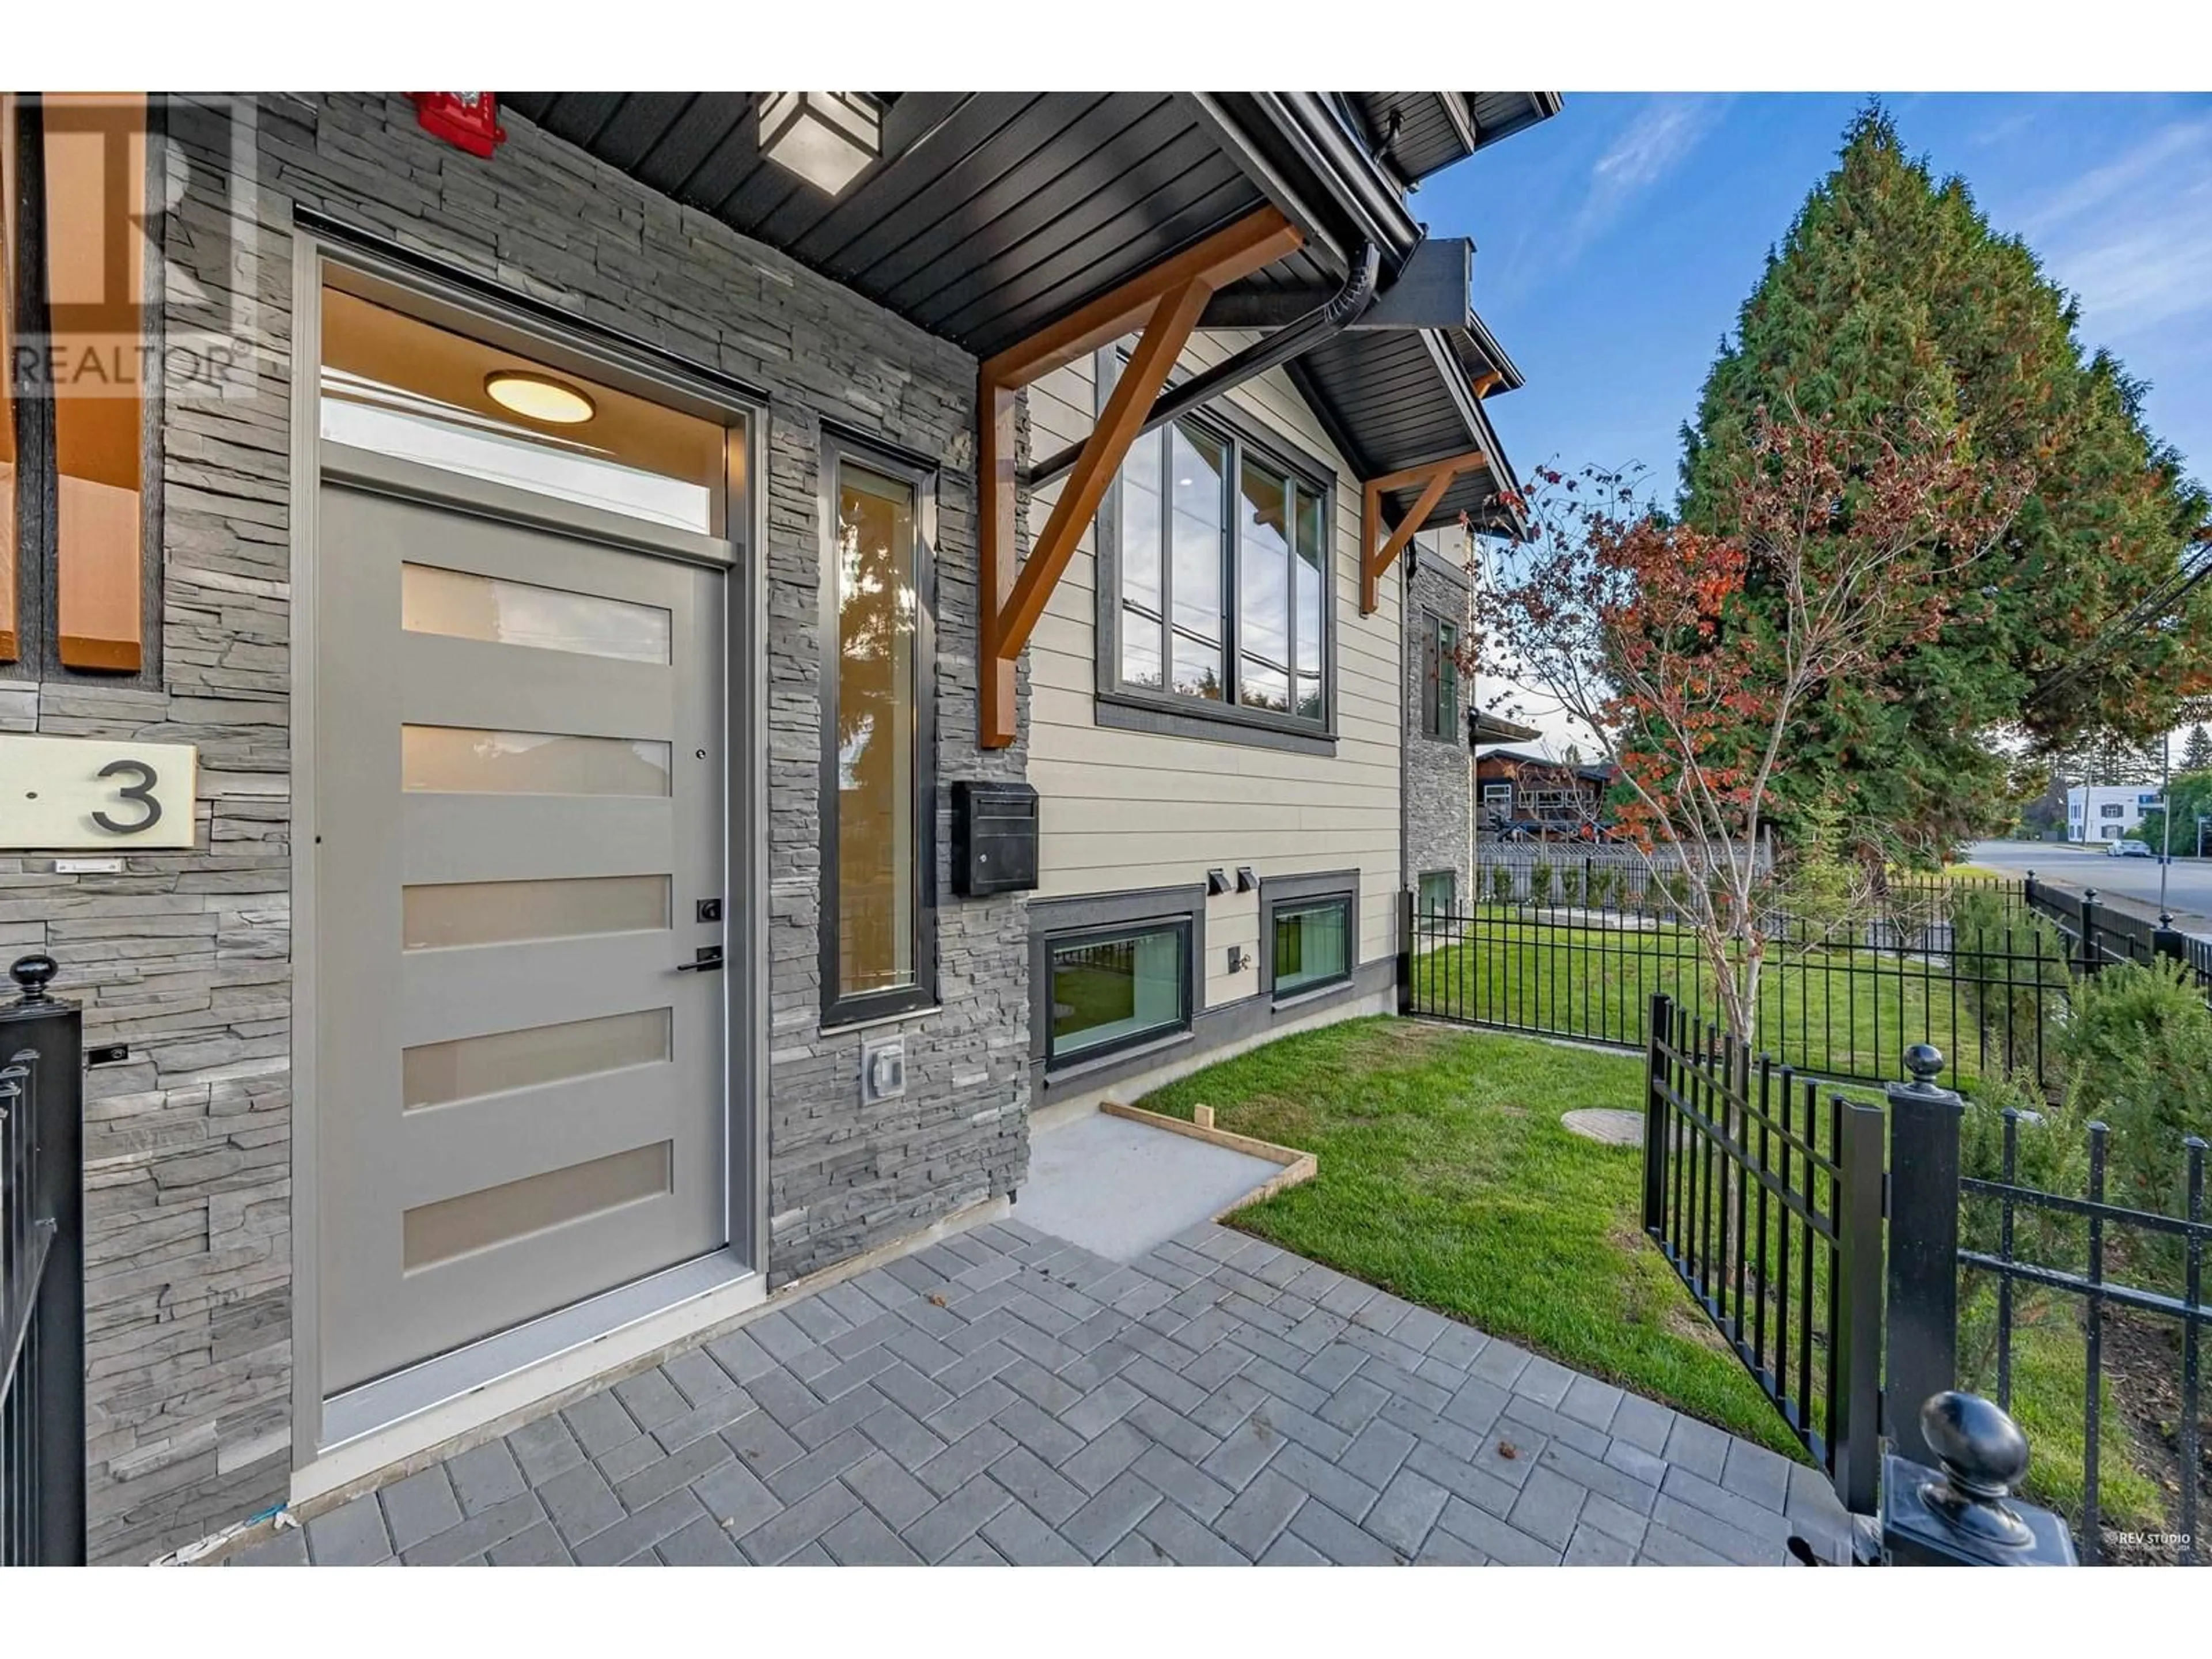
{"type": "Polygon", "coordinates": [[[728,1241],[734,896],[719,568],[325,480],[316,584],[336,1394],[728,1241]]]}

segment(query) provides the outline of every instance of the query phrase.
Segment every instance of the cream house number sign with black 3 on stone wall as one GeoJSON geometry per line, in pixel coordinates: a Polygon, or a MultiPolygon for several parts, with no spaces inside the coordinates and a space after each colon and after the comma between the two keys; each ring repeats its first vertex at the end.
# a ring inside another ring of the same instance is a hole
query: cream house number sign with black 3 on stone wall
{"type": "Polygon", "coordinates": [[[0,847],[190,847],[199,750],[0,737],[0,847]]]}

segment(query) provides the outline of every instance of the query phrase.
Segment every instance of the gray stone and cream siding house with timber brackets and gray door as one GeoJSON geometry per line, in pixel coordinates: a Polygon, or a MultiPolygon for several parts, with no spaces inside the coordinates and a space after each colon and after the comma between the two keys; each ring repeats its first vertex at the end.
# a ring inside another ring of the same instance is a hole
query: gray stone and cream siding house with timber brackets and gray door
{"type": "MultiPolygon", "coordinates": [[[[111,779],[188,845],[0,856],[9,945],[128,1044],[95,1559],[1004,1214],[1040,1110],[1391,1006],[1409,617],[1458,599],[1389,566],[1511,478],[1405,190],[1557,97],[810,95],[832,188],[757,97],[513,95],[489,155],[400,93],[186,100],[13,221],[33,292],[95,199],[179,204],[131,301],[168,380],[0,411],[0,730],[199,768],[111,779]],[[230,396],[177,356],[210,307],[230,396]]],[[[64,111],[0,113],[7,199],[64,111]]]]}

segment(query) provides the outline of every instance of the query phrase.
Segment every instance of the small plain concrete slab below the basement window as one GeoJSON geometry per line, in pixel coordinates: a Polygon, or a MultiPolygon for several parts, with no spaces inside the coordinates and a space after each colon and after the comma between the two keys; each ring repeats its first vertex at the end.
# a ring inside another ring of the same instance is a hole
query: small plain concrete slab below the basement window
{"type": "Polygon", "coordinates": [[[1015,1214],[1113,1261],[1137,1261],[1281,1172],[1250,1152],[1091,1113],[1029,1144],[1015,1214]]]}

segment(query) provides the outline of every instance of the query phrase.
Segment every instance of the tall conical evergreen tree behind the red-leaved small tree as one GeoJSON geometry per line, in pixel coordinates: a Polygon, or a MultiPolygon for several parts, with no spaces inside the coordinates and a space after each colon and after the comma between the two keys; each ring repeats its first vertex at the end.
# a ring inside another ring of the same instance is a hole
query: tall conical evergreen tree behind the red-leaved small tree
{"type": "Polygon", "coordinates": [[[2011,763],[1984,741],[1991,730],[2024,730],[2033,763],[2097,730],[2152,739],[2212,692],[2212,584],[2097,670],[2051,686],[2174,575],[2208,520],[2203,489],[2143,425],[2143,385],[2106,352],[2084,356],[2075,319],[1964,181],[1909,159],[1880,106],[1854,119],[1683,427],[1681,518],[1745,529],[1761,409],[1783,405],[1829,431],[1955,425],[1975,456],[2026,467],[2033,487],[1973,582],[1938,595],[1947,615],[1931,637],[1814,690],[1774,781],[1785,834],[1796,810],[1829,801],[1920,845],[1955,843],[2008,816],[2011,763]]]}

